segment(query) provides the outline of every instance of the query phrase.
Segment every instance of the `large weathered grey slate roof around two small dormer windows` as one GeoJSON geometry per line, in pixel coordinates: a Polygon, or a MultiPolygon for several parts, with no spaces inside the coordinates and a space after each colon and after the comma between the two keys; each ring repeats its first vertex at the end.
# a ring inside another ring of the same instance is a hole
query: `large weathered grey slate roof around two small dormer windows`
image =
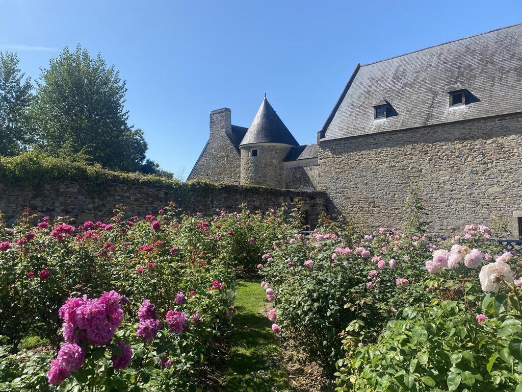
{"type": "Polygon", "coordinates": [[[323,129],[338,139],[522,111],[522,24],[357,65],[323,129]],[[472,103],[449,108],[448,92],[472,103]],[[382,98],[395,116],[374,121],[382,98]],[[468,100],[467,100],[468,101],[468,100]]]}

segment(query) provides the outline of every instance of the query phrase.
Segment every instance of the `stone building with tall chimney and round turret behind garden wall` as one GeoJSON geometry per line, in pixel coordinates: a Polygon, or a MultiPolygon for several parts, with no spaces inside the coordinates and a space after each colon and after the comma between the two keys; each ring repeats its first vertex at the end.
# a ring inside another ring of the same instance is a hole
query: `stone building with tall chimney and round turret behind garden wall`
{"type": "Polygon", "coordinates": [[[210,136],[187,180],[317,188],[317,145],[301,146],[265,98],[248,128],[228,108],[210,112],[210,136]]]}

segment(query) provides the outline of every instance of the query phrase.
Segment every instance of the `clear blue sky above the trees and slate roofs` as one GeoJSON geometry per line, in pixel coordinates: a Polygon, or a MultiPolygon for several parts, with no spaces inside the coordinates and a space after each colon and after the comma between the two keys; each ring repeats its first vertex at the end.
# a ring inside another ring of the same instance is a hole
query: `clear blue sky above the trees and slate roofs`
{"type": "Polygon", "coordinates": [[[314,143],[355,64],[522,22],[522,1],[0,0],[0,50],[36,78],[68,46],[101,52],[127,81],[148,157],[187,176],[209,112],[250,125],[263,94],[314,143]]]}

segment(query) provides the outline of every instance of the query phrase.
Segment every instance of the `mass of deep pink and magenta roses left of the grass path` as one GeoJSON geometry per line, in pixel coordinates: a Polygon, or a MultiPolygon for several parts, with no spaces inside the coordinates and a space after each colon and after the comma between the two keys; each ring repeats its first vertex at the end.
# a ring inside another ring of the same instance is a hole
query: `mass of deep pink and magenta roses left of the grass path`
{"type": "Polygon", "coordinates": [[[289,227],[283,209],[125,216],[118,207],[109,222],[77,226],[47,217],[32,226],[29,212],[12,227],[0,220],[0,355],[16,363],[0,366],[0,389],[192,385],[227,333],[236,274],[255,271],[289,227]],[[101,310],[104,292],[121,297],[117,314],[101,310]],[[54,350],[27,358],[28,334],[54,350]]]}

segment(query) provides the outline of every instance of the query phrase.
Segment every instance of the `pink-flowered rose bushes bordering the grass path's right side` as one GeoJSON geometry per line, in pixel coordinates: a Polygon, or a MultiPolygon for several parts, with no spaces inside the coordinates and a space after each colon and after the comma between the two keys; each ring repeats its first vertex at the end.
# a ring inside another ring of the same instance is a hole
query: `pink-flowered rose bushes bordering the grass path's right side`
{"type": "Polygon", "coordinates": [[[428,244],[426,236],[384,229],[354,236],[349,227],[278,241],[260,271],[274,291],[268,299],[275,300],[281,336],[333,373],[344,333],[375,339],[397,308],[423,300],[428,244]]]}

